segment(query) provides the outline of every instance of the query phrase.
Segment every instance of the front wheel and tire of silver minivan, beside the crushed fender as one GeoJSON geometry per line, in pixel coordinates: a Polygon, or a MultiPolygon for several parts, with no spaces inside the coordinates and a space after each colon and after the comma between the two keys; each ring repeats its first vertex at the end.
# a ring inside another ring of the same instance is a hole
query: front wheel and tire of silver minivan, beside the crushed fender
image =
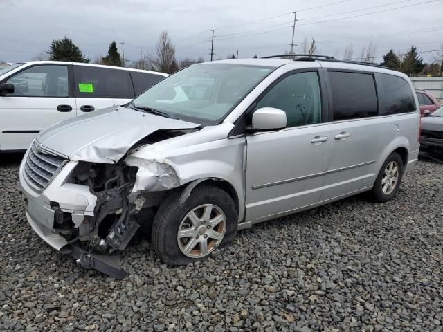
{"type": "Polygon", "coordinates": [[[208,185],[197,186],[183,204],[180,195],[181,191],[177,191],[165,199],[152,225],[152,246],[168,265],[206,259],[217,248],[230,243],[237,233],[238,214],[227,192],[208,185]],[[179,230],[186,237],[179,238],[179,230]]]}

